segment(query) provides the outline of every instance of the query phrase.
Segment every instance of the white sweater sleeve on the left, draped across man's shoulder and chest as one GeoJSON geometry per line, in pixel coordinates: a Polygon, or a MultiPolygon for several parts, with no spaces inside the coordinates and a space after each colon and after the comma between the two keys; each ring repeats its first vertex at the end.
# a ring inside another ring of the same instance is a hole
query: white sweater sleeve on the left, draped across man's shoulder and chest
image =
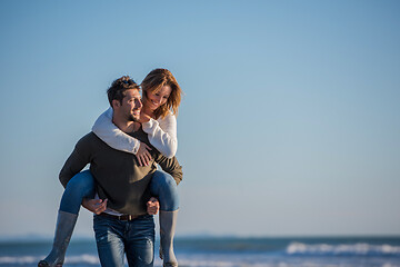
{"type": "Polygon", "coordinates": [[[109,108],[99,116],[92,127],[92,131],[113,149],[130,154],[138,152],[140,141],[124,134],[112,123],[112,108],[109,108]]]}

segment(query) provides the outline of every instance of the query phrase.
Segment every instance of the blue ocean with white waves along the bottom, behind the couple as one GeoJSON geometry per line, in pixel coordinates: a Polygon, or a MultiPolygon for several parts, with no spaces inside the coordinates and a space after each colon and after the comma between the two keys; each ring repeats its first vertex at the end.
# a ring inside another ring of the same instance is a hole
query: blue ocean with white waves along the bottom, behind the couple
{"type": "MultiPolygon", "coordinates": [[[[0,267],[37,266],[50,241],[0,241],[0,267]]],[[[158,244],[156,244],[158,248],[158,244]]],[[[180,267],[400,267],[400,237],[176,239],[180,267]]],[[[100,266],[92,239],[72,238],[64,266],[100,266]]],[[[156,249],[154,266],[161,266],[156,249]]]]}

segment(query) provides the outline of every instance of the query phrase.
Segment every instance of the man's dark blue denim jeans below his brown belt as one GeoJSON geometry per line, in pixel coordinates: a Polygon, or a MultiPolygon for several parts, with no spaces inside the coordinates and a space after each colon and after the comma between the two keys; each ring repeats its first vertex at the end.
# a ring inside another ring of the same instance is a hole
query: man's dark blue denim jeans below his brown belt
{"type": "Polygon", "coordinates": [[[94,215],[93,228],[102,267],[124,266],[124,253],[129,266],[153,266],[153,216],[143,215],[122,221],[94,215]]]}

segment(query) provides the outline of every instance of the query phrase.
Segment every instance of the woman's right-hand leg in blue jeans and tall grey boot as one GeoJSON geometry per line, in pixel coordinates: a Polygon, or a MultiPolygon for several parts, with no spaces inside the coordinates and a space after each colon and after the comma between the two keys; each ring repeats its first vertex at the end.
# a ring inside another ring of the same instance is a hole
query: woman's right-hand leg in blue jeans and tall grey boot
{"type": "Polygon", "coordinates": [[[174,179],[157,170],[150,182],[150,192],[160,202],[160,257],[163,266],[178,266],[173,253],[173,236],[179,209],[179,195],[174,179]]]}

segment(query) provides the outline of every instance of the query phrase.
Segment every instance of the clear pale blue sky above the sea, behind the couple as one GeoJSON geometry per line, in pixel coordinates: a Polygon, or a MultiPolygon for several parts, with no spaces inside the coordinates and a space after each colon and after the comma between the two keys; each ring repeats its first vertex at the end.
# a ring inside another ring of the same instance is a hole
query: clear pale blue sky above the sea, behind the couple
{"type": "MultiPolygon", "coordinates": [[[[116,78],[170,69],[178,235],[400,235],[400,2],[0,1],[0,237],[53,234],[116,78]]],[[[77,235],[92,235],[81,211],[77,235]]]]}

